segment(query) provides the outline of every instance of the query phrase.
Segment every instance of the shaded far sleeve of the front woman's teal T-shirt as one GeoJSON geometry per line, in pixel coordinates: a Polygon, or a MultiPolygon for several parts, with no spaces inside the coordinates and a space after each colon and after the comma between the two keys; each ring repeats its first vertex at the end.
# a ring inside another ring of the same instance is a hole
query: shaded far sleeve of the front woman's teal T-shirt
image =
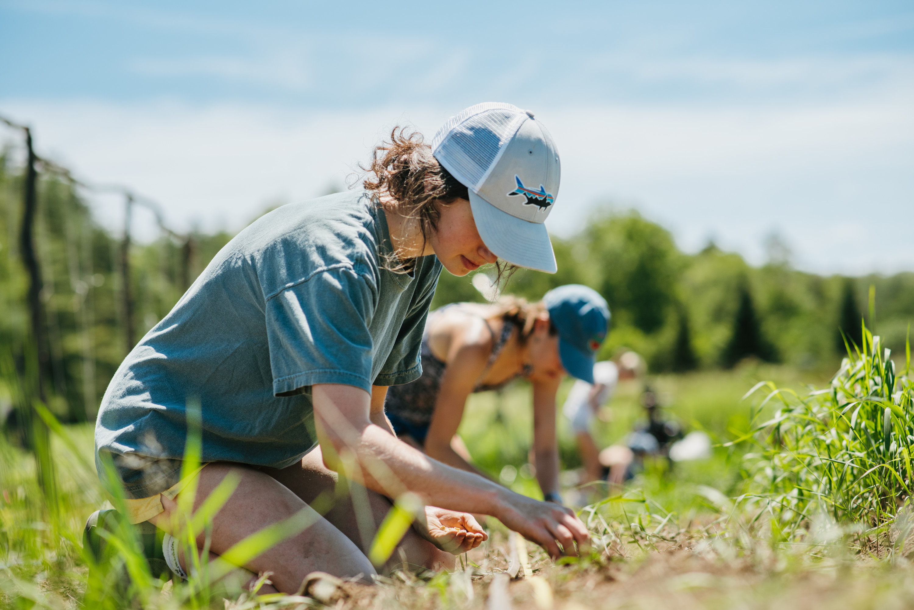
{"type": "Polygon", "coordinates": [[[420,291],[413,297],[412,305],[403,325],[400,326],[397,342],[390,350],[381,372],[377,374],[374,384],[394,386],[418,380],[422,376],[421,352],[422,335],[425,333],[425,321],[429,316],[431,299],[435,296],[435,287],[441,273],[441,264],[431,257],[429,277],[420,291]]]}

